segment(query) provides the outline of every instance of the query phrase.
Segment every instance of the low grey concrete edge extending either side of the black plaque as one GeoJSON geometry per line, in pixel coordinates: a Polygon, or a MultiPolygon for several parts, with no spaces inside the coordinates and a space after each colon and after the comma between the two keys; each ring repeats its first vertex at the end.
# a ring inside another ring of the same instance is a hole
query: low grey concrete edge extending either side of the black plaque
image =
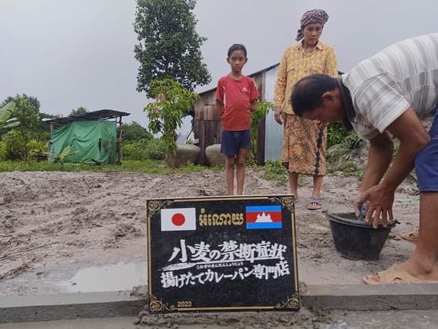
{"type": "MultiPolygon", "coordinates": [[[[301,304],[326,310],[437,310],[438,284],[309,285],[301,304]]],[[[0,297],[0,323],[135,317],[147,300],[131,291],[0,297]]]]}

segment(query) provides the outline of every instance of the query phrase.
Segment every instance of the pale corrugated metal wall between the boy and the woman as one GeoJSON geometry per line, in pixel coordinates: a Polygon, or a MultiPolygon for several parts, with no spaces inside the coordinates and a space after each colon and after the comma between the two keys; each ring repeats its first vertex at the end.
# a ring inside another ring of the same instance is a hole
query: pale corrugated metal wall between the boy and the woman
{"type": "MultiPolygon", "coordinates": [[[[277,68],[266,71],[264,97],[269,102],[274,102],[274,87],[277,68]]],[[[270,111],[266,116],[265,123],[265,144],[264,144],[264,159],[277,160],[281,159],[281,144],[283,142],[283,126],[280,126],[274,120],[274,111],[270,111]]]]}

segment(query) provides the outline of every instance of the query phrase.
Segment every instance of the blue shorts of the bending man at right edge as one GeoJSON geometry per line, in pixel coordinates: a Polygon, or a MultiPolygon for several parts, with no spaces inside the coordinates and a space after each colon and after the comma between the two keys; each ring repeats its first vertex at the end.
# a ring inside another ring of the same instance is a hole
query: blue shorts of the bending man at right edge
{"type": "Polygon", "coordinates": [[[419,192],[438,192],[438,107],[429,135],[430,141],[415,157],[419,192]]]}

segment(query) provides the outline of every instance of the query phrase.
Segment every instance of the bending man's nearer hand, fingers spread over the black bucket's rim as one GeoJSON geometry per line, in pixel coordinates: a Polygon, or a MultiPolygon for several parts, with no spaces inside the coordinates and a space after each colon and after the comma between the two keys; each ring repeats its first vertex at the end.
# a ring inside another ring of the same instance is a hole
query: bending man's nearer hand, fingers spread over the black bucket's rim
{"type": "Polygon", "coordinates": [[[393,202],[394,202],[393,188],[389,188],[384,182],[379,185],[369,188],[367,191],[360,193],[354,201],[354,212],[356,216],[360,214],[360,207],[365,201],[369,201],[365,221],[369,223],[371,216],[374,214],[373,228],[377,229],[380,218],[382,218],[383,227],[387,227],[389,221],[393,218],[393,202]]]}

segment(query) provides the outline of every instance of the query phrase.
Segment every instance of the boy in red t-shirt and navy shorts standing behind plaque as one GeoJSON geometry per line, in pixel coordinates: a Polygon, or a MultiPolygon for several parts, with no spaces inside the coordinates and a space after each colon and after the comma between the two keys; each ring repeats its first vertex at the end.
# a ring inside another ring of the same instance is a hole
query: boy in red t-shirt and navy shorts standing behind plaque
{"type": "Polygon", "coordinates": [[[216,89],[216,107],[222,110],[220,152],[227,156],[225,174],[229,195],[234,194],[234,166],[237,168],[237,194],[243,192],[246,153],[251,145],[251,112],[255,111],[259,97],[254,80],[242,75],[247,61],[245,46],[232,45],[227,57],[231,73],[219,79],[216,89]]]}

